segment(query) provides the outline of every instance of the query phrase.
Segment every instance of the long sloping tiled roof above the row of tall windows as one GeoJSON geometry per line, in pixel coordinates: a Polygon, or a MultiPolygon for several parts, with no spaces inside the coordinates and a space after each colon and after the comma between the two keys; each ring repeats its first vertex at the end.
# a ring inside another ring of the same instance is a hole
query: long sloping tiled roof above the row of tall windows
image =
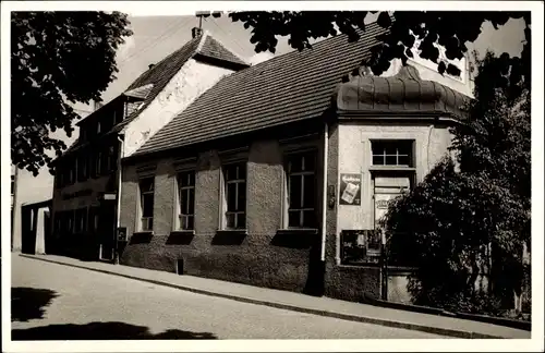
{"type": "Polygon", "coordinates": [[[384,33],[367,25],[360,40],[339,35],[232,73],[205,92],[135,154],[232,136],[322,114],[343,75],[358,68],[384,33]]]}

